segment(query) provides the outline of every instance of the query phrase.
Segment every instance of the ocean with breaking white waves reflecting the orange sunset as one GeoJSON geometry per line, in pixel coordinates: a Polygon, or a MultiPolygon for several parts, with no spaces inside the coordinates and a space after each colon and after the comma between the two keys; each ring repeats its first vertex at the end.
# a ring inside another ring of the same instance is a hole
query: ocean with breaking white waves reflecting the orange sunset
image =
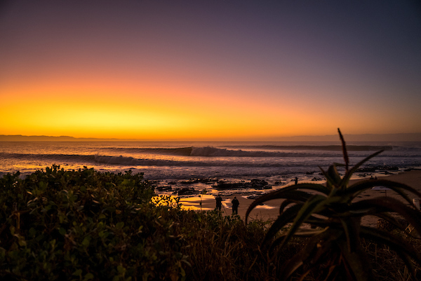
{"type": "MultiPolygon", "coordinates": [[[[351,165],[385,150],[355,177],[421,168],[421,142],[349,142],[347,149],[351,165]]],[[[321,181],[319,167],[326,170],[332,163],[344,163],[340,142],[0,142],[0,176],[19,170],[25,177],[51,165],[65,170],[132,170],[158,187],[171,186],[172,193],[185,186],[220,192],[215,189],[218,181],[260,179],[272,189],[295,177],[321,181]]]]}

